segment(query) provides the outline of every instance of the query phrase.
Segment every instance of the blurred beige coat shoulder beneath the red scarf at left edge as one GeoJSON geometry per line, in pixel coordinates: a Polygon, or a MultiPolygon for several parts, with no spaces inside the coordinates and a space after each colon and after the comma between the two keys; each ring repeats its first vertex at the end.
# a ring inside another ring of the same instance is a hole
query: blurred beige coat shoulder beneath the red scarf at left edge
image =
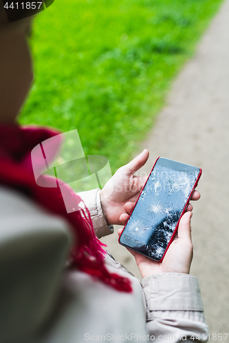
{"type": "Polygon", "coordinates": [[[70,245],[64,220],[0,187],[1,342],[23,342],[43,325],[70,245]]]}

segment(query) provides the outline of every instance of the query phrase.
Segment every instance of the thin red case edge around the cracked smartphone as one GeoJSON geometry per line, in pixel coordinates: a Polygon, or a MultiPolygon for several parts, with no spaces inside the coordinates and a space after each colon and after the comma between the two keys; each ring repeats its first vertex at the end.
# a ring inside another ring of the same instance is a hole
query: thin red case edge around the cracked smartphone
{"type": "MultiPolygon", "coordinates": [[[[154,165],[153,165],[153,168],[155,167],[155,164],[157,163],[157,160],[158,160],[158,158],[160,158],[160,157],[161,157],[161,156],[157,157],[157,159],[156,159],[156,161],[155,161],[155,163],[154,163],[154,165]]],[[[151,169],[151,172],[153,171],[153,168],[151,169]]],[[[151,175],[151,172],[149,173],[149,176],[151,175]]],[[[187,206],[188,206],[188,203],[189,203],[189,201],[190,201],[190,198],[192,198],[193,192],[195,191],[195,188],[196,188],[197,185],[198,185],[199,178],[201,177],[201,174],[202,174],[202,169],[199,168],[199,174],[198,174],[198,176],[197,176],[197,180],[195,181],[195,184],[194,184],[194,186],[193,186],[193,189],[192,189],[192,191],[190,192],[190,196],[188,197],[188,200],[187,200],[187,202],[186,202],[186,204],[185,204],[185,206],[184,206],[184,210],[182,211],[182,214],[181,214],[180,217],[179,217],[179,220],[178,220],[178,222],[177,222],[177,226],[175,227],[175,230],[174,230],[174,232],[173,232],[173,235],[172,235],[172,237],[171,237],[171,240],[170,240],[169,243],[168,243],[168,246],[167,246],[167,248],[166,248],[166,250],[165,250],[165,252],[164,252],[164,255],[162,256],[162,259],[160,259],[160,261],[157,261],[157,262],[162,262],[162,261],[163,261],[164,256],[166,255],[166,251],[168,250],[169,246],[171,245],[171,243],[172,243],[172,241],[173,241],[173,239],[174,239],[175,233],[177,232],[177,228],[178,228],[178,226],[179,226],[179,221],[181,220],[182,215],[184,215],[184,213],[185,213],[185,211],[186,211],[186,208],[187,208],[187,206]]],[[[148,176],[146,182],[148,182],[149,176],[148,176]]],[[[146,185],[146,182],[144,183],[144,187],[145,187],[145,185],[146,185]]],[[[143,191],[144,187],[142,187],[142,191],[143,191]]],[[[140,198],[140,195],[141,195],[142,191],[140,192],[140,194],[139,194],[139,196],[138,196],[138,199],[140,198]]],[[[135,205],[133,206],[133,209],[135,208],[137,202],[138,202],[138,200],[135,202],[135,205]]],[[[132,214],[132,212],[133,212],[133,209],[132,209],[132,211],[131,211],[129,217],[131,217],[131,214],[132,214]]],[[[127,222],[129,221],[129,217],[128,217],[127,222]]],[[[125,228],[125,226],[127,225],[127,222],[126,222],[126,224],[124,225],[124,228],[125,228]]],[[[124,230],[124,228],[123,228],[123,230],[124,230]]],[[[122,230],[122,232],[123,232],[123,230],[122,230]]],[[[119,239],[118,239],[118,243],[119,243],[121,246],[125,246],[124,244],[122,244],[122,243],[120,242],[121,236],[122,236],[122,233],[121,233],[121,235],[120,235],[120,237],[119,237],[119,239]]],[[[131,249],[130,247],[128,247],[128,248],[131,249]]],[[[133,249],[131,249],[131,250],[133,250],[133,249]]],[[[135,251],[135,250],[133,250],[133,251],[135,251]]],[[[140,252],[138,252],[138,253],[140,254],[140,252]]],[[[144,254],[142,254],[142,255],[144,255],[144,254]]],[[[146,255],[144,255],[144,256],[146,256],[146,255]]],[[[153,261],[155,261],[155,260],[153,260],[153,261]]]]}

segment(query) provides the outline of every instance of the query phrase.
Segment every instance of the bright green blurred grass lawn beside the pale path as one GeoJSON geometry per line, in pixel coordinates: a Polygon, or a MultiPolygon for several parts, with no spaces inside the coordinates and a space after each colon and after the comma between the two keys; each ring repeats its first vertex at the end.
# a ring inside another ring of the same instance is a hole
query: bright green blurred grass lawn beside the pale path
{"type": "Polygon", "coordinates": [[[114,171],[146,137],[222,0],[56,0],[36,17],[21,123],[78,129],[114,171]]]}

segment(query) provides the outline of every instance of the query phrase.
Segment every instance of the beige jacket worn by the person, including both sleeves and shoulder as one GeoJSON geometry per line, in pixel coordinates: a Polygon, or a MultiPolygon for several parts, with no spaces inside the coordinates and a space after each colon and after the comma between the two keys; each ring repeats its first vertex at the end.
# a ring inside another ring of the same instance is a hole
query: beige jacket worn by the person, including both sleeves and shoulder
{"type": "MultiPolygon", "coordinates": [[[[81,193],[96,234],[111,233],[99,190],[81,193]]],[[[0,342],[206,342],[199,283],[165,273],[140,281],[107,255],[107,268],[131,279],[131,294],[65,269],[70,228],[21,194],[0,187],[0,342]]]]}

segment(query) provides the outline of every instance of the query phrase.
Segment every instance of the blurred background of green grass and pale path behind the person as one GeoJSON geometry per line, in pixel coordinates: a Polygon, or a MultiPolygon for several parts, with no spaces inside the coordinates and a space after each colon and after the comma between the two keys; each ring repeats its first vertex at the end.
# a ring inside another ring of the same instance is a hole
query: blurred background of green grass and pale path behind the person
{"type": "MultiPolygon", "coordinates": [[[[56,0],[34,20],[35,80],[19,119],[78,129],[85,154],[113,172],[143,148],[144,173],[158,156],[204,170],[191,274],[211,334],[229,333],[228,18],[228,0],[56,0]]],[[[102,241],[141,279],[116,233],[102,241]]]]}

